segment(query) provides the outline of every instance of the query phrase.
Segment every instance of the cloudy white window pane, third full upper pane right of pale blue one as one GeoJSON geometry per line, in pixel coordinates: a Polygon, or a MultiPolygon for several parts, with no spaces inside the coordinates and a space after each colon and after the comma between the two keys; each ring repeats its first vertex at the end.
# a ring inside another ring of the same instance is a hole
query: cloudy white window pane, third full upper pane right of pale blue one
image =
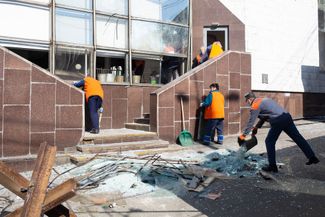
{"type": "Polygon", "coordinates": [[[161,24],[132,21],[132,48],[144,51],[162,51],[161,24]]]}

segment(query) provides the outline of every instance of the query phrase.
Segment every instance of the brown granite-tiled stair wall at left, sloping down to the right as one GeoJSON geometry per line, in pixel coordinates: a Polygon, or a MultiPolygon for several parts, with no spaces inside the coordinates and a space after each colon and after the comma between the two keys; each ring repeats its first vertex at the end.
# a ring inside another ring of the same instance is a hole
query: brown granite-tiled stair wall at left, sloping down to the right
{"type": "Polygon", "coordinates": [[[36,154],[44,141],[60,150],[77,145],[83,102],[82,91],[0,47],[1,157],[36,154]]]}

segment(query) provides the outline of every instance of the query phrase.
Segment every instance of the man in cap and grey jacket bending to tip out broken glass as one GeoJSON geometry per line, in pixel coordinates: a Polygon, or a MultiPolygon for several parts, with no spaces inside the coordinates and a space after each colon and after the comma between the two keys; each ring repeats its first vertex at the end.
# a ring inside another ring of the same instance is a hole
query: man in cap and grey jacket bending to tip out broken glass
{"type": "Polygon", "coordinates": [[[251,107],[250,116],[243,133],[238,137],[238,142],[240,143],[245,140],[245,136],[251,131],[252,134],[257,134],[257,129],[261,128],[265,121],[271,125],[271,129],[265,139],[269,165],[263,167],[262,170],[266,172],[278,172],[275,160],[275,143],[282,131],[299,146],[309,159],[306,165],[317,164],[319,162],[308,142],[296,128],[290,113],[270,98],[256,98],[255,94],[251,91],[245,94],[245,99],[251,107]],[[253,127],[257,118],[260,120],[253,127]]]}

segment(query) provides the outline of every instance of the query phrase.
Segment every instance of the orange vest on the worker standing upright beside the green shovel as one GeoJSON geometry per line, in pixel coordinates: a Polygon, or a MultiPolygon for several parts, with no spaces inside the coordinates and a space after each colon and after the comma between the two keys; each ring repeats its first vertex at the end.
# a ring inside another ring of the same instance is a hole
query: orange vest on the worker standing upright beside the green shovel
{"type": "Polygon", "coordinates": [[[219,91],[213,91],[211,105],[205,108],[204,119],[225,118],[225,98],[219,91]]]}

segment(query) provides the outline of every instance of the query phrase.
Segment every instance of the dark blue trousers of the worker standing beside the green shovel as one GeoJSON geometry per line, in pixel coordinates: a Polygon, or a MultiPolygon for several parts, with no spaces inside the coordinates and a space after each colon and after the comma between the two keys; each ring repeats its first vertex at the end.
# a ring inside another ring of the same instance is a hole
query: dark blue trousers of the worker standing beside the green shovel
{"type": "MultiPolygon", "coordinates": [[[[223,119],[208,119],[205,127],[204,143],[209,143],[214,138],[214,132],[217,131],[218,138],[223,139],[223,119]]],[[[220,141],[222,142],[222,141],[220,141]]]]}

